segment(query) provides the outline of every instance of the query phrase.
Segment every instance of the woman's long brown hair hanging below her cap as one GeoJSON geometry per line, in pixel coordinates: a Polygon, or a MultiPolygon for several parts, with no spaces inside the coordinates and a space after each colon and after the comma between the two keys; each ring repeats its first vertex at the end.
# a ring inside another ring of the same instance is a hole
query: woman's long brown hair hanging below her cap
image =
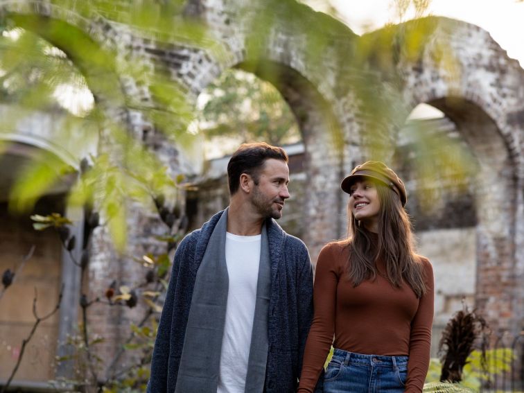
{"type": "Polygon", "coordinates": [[[417,297],[426,293],[423,269],[412,246],[412,230],[408,213],[401,205],[399,195],[381,183],[375,183],[378,201],[381,204],[378,220],[378,244],[365,227],[358,225],[349,211],[349,227],[353,236],[349,239],[349,279],[358,286],[365,279],[374,279],[378,274],[375,261],[384,259],[387,279],[399,288],[408,283],[417,297]]]}

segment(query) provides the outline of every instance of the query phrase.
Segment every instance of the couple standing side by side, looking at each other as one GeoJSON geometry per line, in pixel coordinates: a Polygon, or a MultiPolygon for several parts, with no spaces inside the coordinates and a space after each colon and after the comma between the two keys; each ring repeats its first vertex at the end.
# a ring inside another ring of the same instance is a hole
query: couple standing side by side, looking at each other
{"type": "Polygon", "coordinates": [[[229,207],[177,248],[148,392],[422,391],[433,270],[414,254],[403,182],[377,161],[342,181],[351,237],[320,252],[313,295],[306,246],[274,221],[287,162],[267,143],[232,155],[229,207]]]}

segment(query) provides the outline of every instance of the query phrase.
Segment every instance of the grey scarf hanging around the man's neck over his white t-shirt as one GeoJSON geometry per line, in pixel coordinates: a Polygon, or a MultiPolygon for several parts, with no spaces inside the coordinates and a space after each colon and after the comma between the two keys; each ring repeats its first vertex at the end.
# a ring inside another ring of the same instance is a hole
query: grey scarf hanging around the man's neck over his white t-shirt
{"type": "MultiPolygon", "coordinates": [[[[207,243],[198,268],[175,393],[216,393],[224,335],[229,277],[225,260],[226,209],[207,243]]],[[[268,234],[262,227],[259,277],[247,363],[245,392],[263,392],[268,360],[268,310],[271,292],[268,234]]]]}

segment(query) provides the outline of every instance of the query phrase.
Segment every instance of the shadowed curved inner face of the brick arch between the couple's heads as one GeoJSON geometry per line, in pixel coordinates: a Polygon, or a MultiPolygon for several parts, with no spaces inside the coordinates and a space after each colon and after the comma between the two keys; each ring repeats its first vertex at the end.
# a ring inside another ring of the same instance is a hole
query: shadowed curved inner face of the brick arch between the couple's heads
{"type": "Polygon", "coordinates": [[[333,220],[341,209],[338,184],[342,177],[342,149],[338,120],[315,85],[288,65],[258,60],[236,67],[272,83],[295,114],[306,151],[303,240],[316,259],[327,240],[338,238],[342,226],[341,220],[333,220]]]}

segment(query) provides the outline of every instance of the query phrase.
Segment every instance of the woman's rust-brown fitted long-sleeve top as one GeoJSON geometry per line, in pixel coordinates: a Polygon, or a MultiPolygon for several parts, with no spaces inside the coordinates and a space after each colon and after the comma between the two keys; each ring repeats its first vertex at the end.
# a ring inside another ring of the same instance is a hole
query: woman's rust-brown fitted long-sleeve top
{"type": "Polygon", "coordinates": [[[353,287],[347,275],[347,241],[324,246],[317,261],[315,315],[304,351],[299,393],[313,392],[329,349],[385,356],[409,356],[405,392],[420,393],[429,367],[433,324],[433,268],[421,257],[426,294],[420,299],[408,284],[394,288],[379,275],[353,287]]]}

